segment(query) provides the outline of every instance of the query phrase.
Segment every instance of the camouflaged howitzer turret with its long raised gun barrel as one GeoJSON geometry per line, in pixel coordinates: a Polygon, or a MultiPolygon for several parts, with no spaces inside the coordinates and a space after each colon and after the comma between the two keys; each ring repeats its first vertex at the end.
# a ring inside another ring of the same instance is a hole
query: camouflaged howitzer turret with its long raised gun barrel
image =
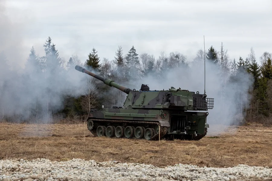
{"type": "Polygon", "coordinates": [[[213,98],[206,98],[206,94],[199,94],[189,90],[176,89],[150,91],[147,84],[142,84],[140,90],[131,90],[108,78],[96,75],[78,65],[76,70],[91,75],[103,81],[108,86],[115,87],[127,95],[124,108],[132,109],[172,109],[172,110],[208,110],[213,108],[213,98]]]}

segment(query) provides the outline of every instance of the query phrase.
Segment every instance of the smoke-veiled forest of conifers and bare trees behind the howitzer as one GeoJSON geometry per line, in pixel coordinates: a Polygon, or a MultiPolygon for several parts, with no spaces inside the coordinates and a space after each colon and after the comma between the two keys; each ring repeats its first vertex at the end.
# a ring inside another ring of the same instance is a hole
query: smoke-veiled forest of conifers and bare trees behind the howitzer
{"type": "MultiPolygon", "coordinates": [[[[123,106],[125,93],[76,71],[75,65],[134,88],[136,83],[144,83],[147,79],[169,81],[172,72],[194,70],[197,65],[203,67],[205,58],[206,65],[214,67],[213,71],[220,80],[215,88],[216,95],[209,95],[219,100],[215,113],[221,118],[233,114],[229,124],[259,122],[272,125],[271,53],[265,51],[257,58],[251,47],[247,57],[231,60],[221,42],[218,49],[214,46],[205,52],[199,49],[195,58],[189,60],[181,52],[160,52],[160,56],[155,57],[137,52],[136,48],[131,46],[124,51],[122,46],[118,46],[112,60],[101,59],[95,48],[86,55],[86,60],[80,60],[77,55],[65,60],[60,58],[57,46],[48,37],[44,42],[44,56],[38,56],[33,46],[30,48],[23,73],[13,70],[5,52],[1,52],[0,120],[28,123],[84,120],[88,112],[101,110],[102,105],[104,108],[123,106]],[[248,79],[244,80],[244,77],[248,79]],[[235,88],[230,86],[234,84],[235,88]],[[232,97],[231,101],[229,97],[232,97]],[[235,109],[229,112],[230,107],[235,109]],[[239,115],[238,119],[236,115],[239,115]]],[[[207,73],[211,74],[211,71],[207,73]]],[[[209,75],[206,81],[209,81],[209,75]]]]}

